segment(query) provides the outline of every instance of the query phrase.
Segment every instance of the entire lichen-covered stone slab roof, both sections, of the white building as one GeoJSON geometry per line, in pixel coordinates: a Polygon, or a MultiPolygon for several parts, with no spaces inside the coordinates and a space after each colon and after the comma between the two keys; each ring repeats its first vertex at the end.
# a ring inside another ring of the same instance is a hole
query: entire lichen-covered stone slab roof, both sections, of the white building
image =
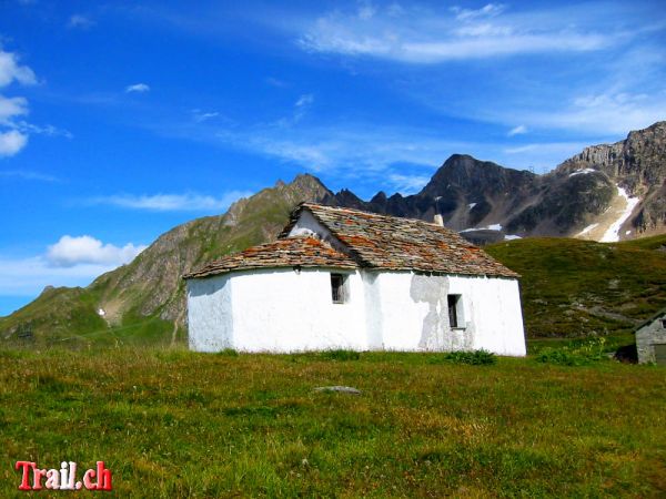
{"type": "Polygon", "coordinates": [[[290,266],[518,277],[457,233],[421,220],[302,203],[279,237],[211,262],[184,278],[290,266]],[[290,237],[305,210],[342,243],[342,251],[317,237],[290,237]]]}

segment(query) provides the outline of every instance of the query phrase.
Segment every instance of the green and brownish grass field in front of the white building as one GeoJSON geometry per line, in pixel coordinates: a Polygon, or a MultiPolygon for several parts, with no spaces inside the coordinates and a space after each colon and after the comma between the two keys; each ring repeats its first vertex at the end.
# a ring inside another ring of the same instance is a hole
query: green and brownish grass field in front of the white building
{"type": "Polygon", "coordinates": [[[119,497],[666,495],[664,368],[343,354],[0,350],[0,497],[17,460],[119,497]]]}

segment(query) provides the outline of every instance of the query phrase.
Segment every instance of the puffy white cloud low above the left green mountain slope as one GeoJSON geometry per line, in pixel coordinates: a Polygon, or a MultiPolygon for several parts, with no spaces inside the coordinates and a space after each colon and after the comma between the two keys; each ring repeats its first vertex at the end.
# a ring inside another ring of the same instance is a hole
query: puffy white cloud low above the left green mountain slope
{"type": "Polygon", "coordinates": [[[130,263],[145,247],[134,246],[132,243],[118,247],[103,244],[89,235],[64,235],[58,243],[49,246],[46,257],[49,264],[56,267],[73,267],[81,264],[119,266],[130,263]]]}

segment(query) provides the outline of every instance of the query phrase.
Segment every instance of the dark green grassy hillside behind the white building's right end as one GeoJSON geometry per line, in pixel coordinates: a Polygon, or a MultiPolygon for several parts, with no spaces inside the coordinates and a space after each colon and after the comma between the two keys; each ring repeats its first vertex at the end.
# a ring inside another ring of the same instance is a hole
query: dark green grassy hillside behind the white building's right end
{"type": "Polygon", "coordinates": [[[529,337],[628,332],[666,306],[666,235],[623,243],[525,238],[484,249],[522,274],[529,337]]]}

